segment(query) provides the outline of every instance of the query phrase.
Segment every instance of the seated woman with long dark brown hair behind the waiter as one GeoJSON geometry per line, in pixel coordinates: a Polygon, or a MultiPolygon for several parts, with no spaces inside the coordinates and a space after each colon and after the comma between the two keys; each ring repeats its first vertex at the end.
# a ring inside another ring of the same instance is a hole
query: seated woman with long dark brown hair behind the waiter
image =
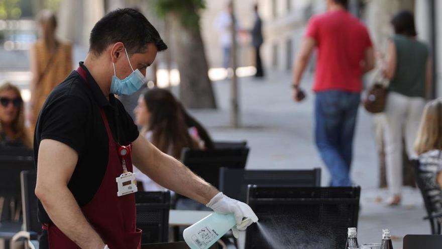
{"type": "MultiPolygon", "coordinates": [[[[148,90],[140,96],[134,113],[135,123],[142,127],[141,134],[164,153],[180,159],[184,147],[203,148],[197,132],[186,126],[180,104],[169,91],[148,90]]],[[[140,171],[134,171],[144,191],[165,190],[140,171]]]]}

